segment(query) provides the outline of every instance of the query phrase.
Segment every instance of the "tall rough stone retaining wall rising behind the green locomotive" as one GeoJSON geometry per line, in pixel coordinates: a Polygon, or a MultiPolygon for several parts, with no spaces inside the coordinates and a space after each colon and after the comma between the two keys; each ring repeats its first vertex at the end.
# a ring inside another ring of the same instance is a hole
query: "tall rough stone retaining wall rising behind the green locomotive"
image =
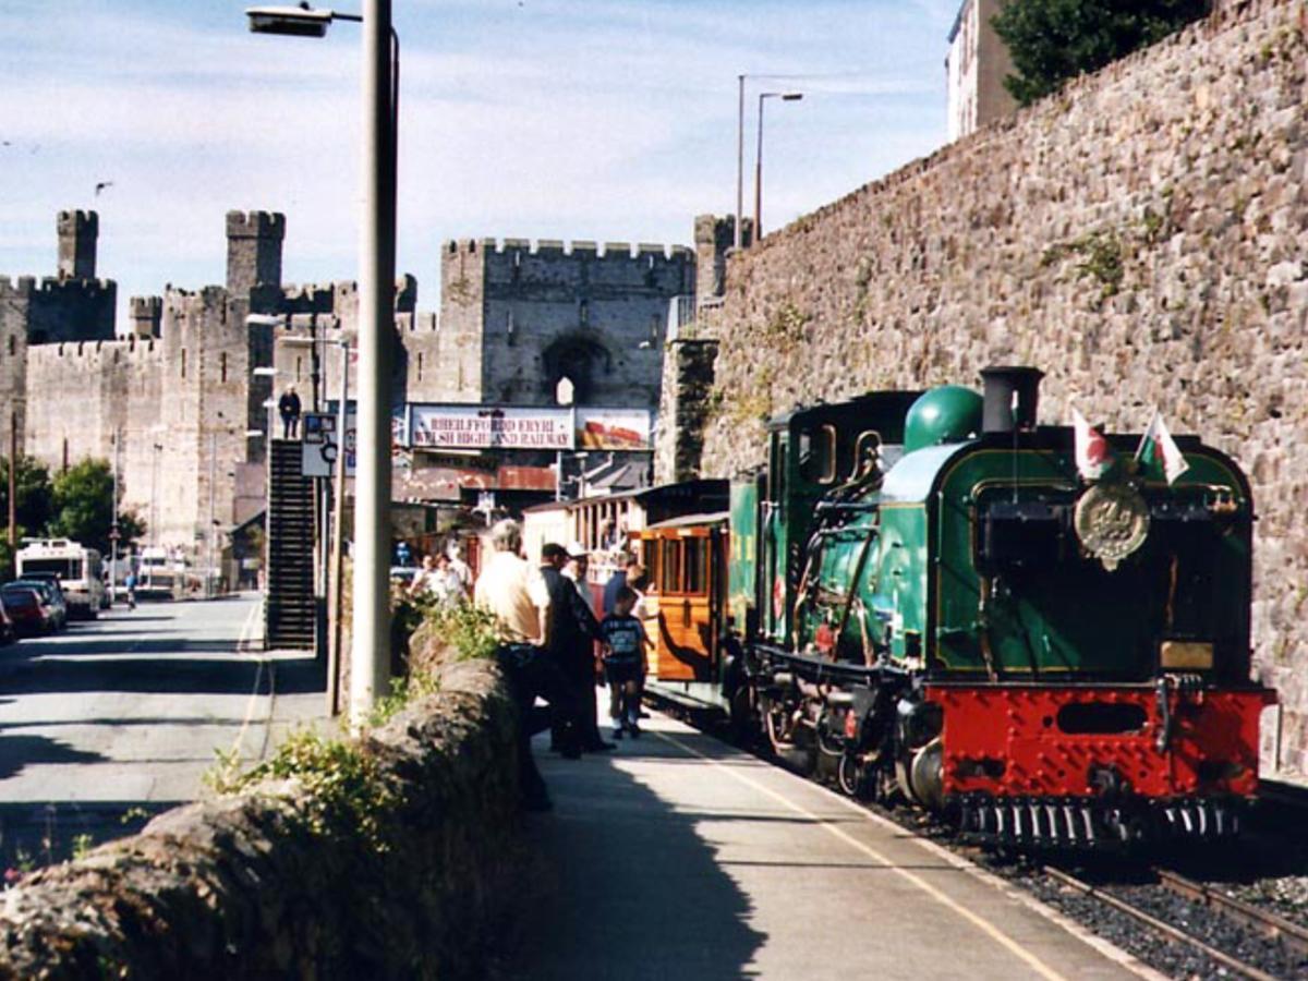
{"type": "Polygon", "coordinates": [[[1253,480],[1257,674],[1308,772],[1308,43],[1303,0],[1206,22],[768,235],[729,260],[708,475],[760,416],[870,388],[1048,378],[1139,432],[1152,407],[1253,480]]]}

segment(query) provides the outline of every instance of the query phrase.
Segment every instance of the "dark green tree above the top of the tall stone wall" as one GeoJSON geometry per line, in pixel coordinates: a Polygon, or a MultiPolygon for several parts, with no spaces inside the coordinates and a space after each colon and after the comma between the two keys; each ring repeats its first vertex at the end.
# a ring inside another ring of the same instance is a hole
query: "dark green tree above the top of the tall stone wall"
{"type": "Polygon", "coordinates": [[[1005,88],[1023,106],[1207,14],[1210,0],[1010,0],[994,17],[1016,75],[1005,88]]]}

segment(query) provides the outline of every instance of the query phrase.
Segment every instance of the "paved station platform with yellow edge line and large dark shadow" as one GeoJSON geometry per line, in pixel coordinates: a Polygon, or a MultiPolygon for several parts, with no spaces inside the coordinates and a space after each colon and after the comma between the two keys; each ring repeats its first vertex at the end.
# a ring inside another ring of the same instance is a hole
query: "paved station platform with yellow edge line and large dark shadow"
{"type": "Polygon", "coordinates": [[[965,859],[658,713],[616,752],[569,761],[538,742],[536,759],[555,810],[527,819],[506,976],[1160,977],[965,859]]]}

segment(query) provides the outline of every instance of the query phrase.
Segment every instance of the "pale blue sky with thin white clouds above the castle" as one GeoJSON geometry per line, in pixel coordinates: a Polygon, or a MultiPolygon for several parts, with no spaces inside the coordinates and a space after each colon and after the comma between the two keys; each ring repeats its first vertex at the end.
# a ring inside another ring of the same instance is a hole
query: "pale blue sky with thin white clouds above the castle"
{"type": "MultiPolygon", "coordinates": [[[[54,275],[55,213],[94,208],[126,309],[222,283],[224,215],[267,209],[285,283],[356,279],[358,26],[255,35],[246,5],[4,0],[0,275],[54,275]]],[[[396,268],[434,309],[450,238],[691,245],[735,208],[742,73],[747,213],[757,93],[804,93],[765,109],[764,226],[793,221],[944,143],[957,5],[394,0],[396,268]]]]}

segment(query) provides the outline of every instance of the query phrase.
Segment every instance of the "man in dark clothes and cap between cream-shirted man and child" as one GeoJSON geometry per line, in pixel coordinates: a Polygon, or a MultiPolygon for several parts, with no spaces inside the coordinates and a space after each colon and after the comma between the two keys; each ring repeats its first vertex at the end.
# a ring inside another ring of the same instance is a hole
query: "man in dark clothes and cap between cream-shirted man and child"
{"type": "Polygon", "coordinates": [[[568,679],[577,700],[577,731],[581,748],[587,752],[612,749],[599,735],[595,712],[595,638],[599,621],[582,600],[577,586],[562,574],[568,549],[548,543],[540,549],[540,576],[549,593],[549,636],[545,650],[568,679]]]}

